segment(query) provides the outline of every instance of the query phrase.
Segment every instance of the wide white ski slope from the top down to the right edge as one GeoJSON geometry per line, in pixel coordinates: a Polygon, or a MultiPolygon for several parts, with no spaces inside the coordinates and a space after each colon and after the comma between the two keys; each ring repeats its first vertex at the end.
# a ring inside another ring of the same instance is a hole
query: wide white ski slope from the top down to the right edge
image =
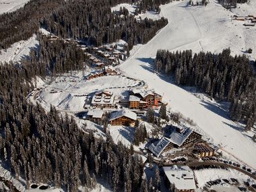
{"type": "Polygon", "coordinates": [[[172,110],[193,119],[215,144],[234,158],[256,168],[256,143],[243,134],[243,127],[229,119],[225,108],[214,101],[200,99],[170,79],[154,73],[153,58],[158,49],[220,52],[230,46],[233,54],[241,54],[240,48],[247,48],[249,44],[256,53],[256,44],[253,44],[253,41],[256,42],[255,27],[247,30],[240,23],[235,26],[229,19],[232,13],[215,1],[210,1],[207,7],[186,5],[187,1],[182,1],[161,6],[169,24],[150,42],[140,46],[120,69],[128,76],[146,81],[150,88],[164,95],[163,100],[172,110]]]}

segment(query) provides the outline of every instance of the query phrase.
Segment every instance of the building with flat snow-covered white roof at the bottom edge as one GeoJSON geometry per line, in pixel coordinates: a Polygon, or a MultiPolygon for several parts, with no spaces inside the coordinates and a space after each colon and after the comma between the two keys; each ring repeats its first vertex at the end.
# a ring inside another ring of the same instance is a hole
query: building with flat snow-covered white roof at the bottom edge
{"type": "Polygon", "coordinates": [[[178,192],[193,192],[196,189],[193,171],[188,166],[164,166],[164,181],[168,186],[175,186],[178,192]]]}

